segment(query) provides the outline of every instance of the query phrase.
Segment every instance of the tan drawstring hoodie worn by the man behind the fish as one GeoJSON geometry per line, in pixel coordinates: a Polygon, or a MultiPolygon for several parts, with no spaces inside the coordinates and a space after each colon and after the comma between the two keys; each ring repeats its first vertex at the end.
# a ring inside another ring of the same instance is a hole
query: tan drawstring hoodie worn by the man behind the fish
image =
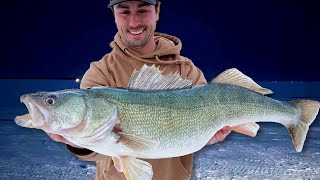
{"type": "MultiPolygon", "coordinates": [[[[180,55],[182,44],[178,38],[155,33],[154,39],[157,45],[156,50],[150,54],[142,55],[127,47],[119,34],[116,34],[114,41],[110,43],[112,52],[106,54],[101,60],[90,64],[90,68],[82,78],[80,87],[124,87],[133,70],[140,69],[143,64],[160,65],[160,69],[165,69],[165,73],[179,72],[182,77],[192,80],[195,85],[207,83],[203,73],[188,58],[180,55]]],[[[118,172],[113,166],[110,157],[87,149],[73,148],[69,145],[67,148],[83,160],[96,161],[95,179],[125,180],[123,173],[118,172]]],[[[146,161],[151,163],[153,167],[154,180],[184,180],[191,177],[192,154],[146,161]]]]}

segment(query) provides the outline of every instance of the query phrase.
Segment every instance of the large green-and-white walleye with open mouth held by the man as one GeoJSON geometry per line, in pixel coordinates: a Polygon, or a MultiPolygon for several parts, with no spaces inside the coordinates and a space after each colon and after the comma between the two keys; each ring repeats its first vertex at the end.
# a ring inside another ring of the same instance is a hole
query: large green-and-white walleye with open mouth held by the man
{"type": "Polygon", "coordinates": [[[127,88],[97,87],[21,96],[29,114],[23,127],[62,135],[70,142],[112,156],[127,179],[151,179],[152,167],[138,158],[183,156],[203,148],[224,126],[255,136],[256,122],[283,124],[297,152],[320,103],[283,102],[237,69],[211,83],[192,86],[178,74],[162,75],[155,66],[135,71],[127,88]]]}

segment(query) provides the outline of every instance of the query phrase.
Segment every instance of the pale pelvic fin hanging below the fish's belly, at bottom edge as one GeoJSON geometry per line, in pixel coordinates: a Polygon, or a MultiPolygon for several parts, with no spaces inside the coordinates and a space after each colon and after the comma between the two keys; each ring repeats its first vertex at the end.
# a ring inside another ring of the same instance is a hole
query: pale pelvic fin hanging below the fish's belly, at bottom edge
{"type": "Polygon", "coordinates": [[[151,180],[153,176],[151,164],[135,157],[120,157],[118,168],[127,180],[151,180]]]}

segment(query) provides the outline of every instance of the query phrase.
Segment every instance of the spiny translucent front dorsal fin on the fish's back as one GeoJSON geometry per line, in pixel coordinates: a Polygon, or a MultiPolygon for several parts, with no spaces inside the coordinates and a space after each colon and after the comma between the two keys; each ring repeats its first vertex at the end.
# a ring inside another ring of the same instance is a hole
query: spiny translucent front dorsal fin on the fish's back
{"type": "Polygon", "coordinates": [[[192,81],[183,79],[178,73],[161,74],[163,71],[155,65],[147,66],[144,64],[142,68],[131,75],[127,88],[138,90],[165,90],[165,89],[181,89],[192,86],[192,81]]]}

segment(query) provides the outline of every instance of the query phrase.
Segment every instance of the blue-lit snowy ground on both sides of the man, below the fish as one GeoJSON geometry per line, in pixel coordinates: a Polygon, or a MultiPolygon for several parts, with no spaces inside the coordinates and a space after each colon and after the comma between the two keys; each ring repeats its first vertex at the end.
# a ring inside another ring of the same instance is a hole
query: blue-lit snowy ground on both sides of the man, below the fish
{"type": "MultiPolygon", "coordinates": [[[[231,133],[195,153],[192,179],[317,179],[320,126],[315,125],[301,153],[275,123],[260,123],[254,138],[231,133]]],[[[78,159],[41,130],[0,122],[0,179],[93,179],[94,174],[93,162],[78,159]]]]}

